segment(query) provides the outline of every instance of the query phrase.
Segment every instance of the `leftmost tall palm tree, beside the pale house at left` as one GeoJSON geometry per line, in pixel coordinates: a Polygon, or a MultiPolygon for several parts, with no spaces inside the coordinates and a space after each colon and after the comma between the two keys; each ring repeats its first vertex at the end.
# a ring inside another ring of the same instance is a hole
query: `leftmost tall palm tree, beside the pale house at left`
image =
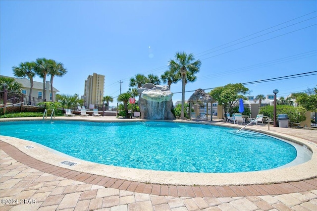
{"type": "Polygon", "coordinates": [[[32,91],[33,91],[33,77],[36,75],[34,68],[35,68],[36,64],[35,62],[21,62],[20,65],[17,66],[13,66],[13,74],[15,77],[18,78],[25,78],[27,77],[28,79],[30,79],[30,93],[29,93],[29,104],[31,104],[31,96],[32,96],[32,91]]]}

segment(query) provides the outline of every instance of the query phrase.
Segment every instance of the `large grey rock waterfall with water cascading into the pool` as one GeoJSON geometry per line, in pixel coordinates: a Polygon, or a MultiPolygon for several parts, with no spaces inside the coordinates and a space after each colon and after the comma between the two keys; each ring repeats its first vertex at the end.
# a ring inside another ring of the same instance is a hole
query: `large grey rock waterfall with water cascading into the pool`
{"type": "Polygon", "coordinates": [[[171,112],[173,94],[168,86],[147,83],[138,88],[138,93],[142,119],[175,119],[171,112]]]}

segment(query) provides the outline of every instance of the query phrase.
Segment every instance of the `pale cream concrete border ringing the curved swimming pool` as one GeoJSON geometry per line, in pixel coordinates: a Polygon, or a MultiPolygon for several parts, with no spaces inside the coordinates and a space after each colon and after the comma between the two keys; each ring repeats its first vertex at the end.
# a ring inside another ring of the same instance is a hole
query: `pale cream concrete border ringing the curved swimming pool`
{"type": "MultiPolygon", "coordinates": [[[[19,120],[43,120],[43,118],[19,118],[19,120]]],[[[55,117],[55,120],[86,120],[86,121],[105,121],[98,117],[55,117]]],[[[17,120],[14,118],[14,120],[17,120]]],[[[106,121],[126,121],[127,119],[110,119],[106,121]]],[[[139,119],[133,121],[140,121],[139,119]]],[[[177,121],[177,120],[176,120],[177,121]]],[[[177,122],[189,122],[178,120],[177,122]]],[[[202,122],[194,122],[202,123],[202,122]]],[[[210,122],[204,122],[210,124],[210,122]]],[[[213,122],[213,125],[241,127],[232,124],[224,124],[222,122],[213,122]]],[[[30,158],[41,160],[44,166],[48,169],[58,167],[60,171],[80,172],[87,175],[101,176],[115,181],[129,181],[135,183],[162,185],[162,186],[241,186],[241,185],[263,185],[273,183],[289,183],[303,180],[310,180],[317,177],[317,145],[312,139],[303,139],[294,137],[279,132],[265,130],[266,127],[252,127],[249,129],[268,133],[278,137],[284,137],[287,140],[294,140],[297,143],[308,146],[313,152],[313,157],[310,161],[300,165],[286,167],[282,169],[272,169],[255,172],[242,173],[184,173],[184,172],[167,172],[167,171],[153,171],[134,168],[125,168],[117,166],[109,166],[98,163],[92,163],[77,158],[70,158],[61,153],[53,152],[51,149],[41,147],[41,145],[34,142],[17,139],[13,137],[0,136],[1,141],[6,142],[22,152],[30,158]],[[258,129],[260,128],[260,129],[258,129]],[[25,146],[36,145],[33,149],[26,149],[25,146]],[[70,160],[80,164],[74,166],[66,166],[60,164],[61,161],[70,160]],[[51,167],[48,167],[51,166],[51,167]]],[[[277,128],[275,128],[277,129],[277,128]]],[[[280,129],[278,129],[280,130],[280,129]]],[[[284,128],[287,130],[287,128],[284,128]]],[[[317,131],[312,131],[314,134],[317,131]]],[[[307,137],[306,137],[307,138],[307,137]]],[[[2,149],[3,143],[1,144],[2,149]]],[[[5,150],[4,150],[5,151],[5,150]]],[[[5,151],[6,152],[6,151],[5,151]]],[[[10,155],[10,154],[9,154],[10,155]]],[[[10,155],[11,156],[11,155],[10,155]]],[[[12,157],[14,158],[14,157],[12,157]]],[[[18,160],[20,161],[20,160],[18,160]]],[[[23,160],[21,160],[23,163],[23,160]]],[[[31,166],[32,167],[32,166],[31,166]]],[[[40,170],[40,169],[39,169],[40,170]]]]}

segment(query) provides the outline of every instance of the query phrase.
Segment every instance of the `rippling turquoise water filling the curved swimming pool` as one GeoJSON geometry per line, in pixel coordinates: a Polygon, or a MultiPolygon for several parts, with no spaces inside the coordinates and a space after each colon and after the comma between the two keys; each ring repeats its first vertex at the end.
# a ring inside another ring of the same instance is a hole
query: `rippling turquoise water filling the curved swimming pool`
{"type": "Polygon", "coordinates": [[[296,158],[283,141],[233,128],[175,122],[1,122],[0,134],[92,162],[180,172],[271,169],[296,158]]]}

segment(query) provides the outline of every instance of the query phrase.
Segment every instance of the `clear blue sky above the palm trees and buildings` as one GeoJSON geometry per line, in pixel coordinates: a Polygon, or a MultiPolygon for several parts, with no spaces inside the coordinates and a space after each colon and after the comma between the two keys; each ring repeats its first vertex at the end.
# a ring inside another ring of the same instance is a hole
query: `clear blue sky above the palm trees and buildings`
{"type": "MultiPolygon", "coordinates": [[[[162,74],[176,52],[202,61],[186,91],[316,71],[316,10],[315,0],[1,0],[0,74],[13,76],[12,66],[46,57],[68,70],[54,78],[60,94],[83,95],[85,79],[96,72],[116,100],[118,81],[126,92],[131,77],[162,74]]],[[[316,85],[313,75],[246,87],[254,96],[274,89],[288,96],[316,85]]],[[[173,102],[180,100],[181,82],[171,91],[173,102]]]]}

